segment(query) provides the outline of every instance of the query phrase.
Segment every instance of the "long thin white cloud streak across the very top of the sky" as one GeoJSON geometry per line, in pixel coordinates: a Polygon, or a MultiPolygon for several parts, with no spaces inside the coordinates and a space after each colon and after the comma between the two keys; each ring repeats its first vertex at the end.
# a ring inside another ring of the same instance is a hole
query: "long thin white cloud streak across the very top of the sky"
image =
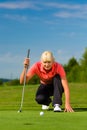
{"type": "Polygon", "coordinates": [[[66,4],[58,2],[39,2],[39,1],[16,1],[16,2],[0,2],[0,8],[6,9],[69,9],[69,10],[87,10],[87,4],[66,4]]]}

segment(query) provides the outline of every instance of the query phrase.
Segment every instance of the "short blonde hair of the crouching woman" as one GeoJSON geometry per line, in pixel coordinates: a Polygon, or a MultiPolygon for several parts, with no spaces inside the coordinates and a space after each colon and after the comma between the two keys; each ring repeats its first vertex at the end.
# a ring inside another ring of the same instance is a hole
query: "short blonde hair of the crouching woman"
{"type": "Polygon", "coordinates": [[[50,51],[43,52],[42,55],[41,55],[41,61],[54,62],[55,59],[54,59],[54,56],[53,56],[52,52],[50,52],[50,51]]]}

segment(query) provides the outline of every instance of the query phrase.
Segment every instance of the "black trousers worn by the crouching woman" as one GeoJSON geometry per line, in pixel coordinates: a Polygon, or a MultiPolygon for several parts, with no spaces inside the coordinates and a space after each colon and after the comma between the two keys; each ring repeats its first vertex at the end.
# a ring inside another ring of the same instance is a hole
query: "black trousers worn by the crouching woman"
{"type": "Polygon", "coordinates": [[[62,105],[63,92],[61,78],[59,75],[55,75],[52,84],[40,84],[36,92],[35,100],[38,104],[49,105],[51,103],[51,96],[53,96],[52,105],[62,105]]]}

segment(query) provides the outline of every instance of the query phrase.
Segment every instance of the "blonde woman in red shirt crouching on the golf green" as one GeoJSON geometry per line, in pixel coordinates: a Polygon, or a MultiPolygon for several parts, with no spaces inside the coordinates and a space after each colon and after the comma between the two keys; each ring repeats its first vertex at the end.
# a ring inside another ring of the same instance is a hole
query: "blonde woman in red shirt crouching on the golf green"
{"type": "MultiPolygon", "coordinates": [[[[24,60],[24,69],[20,75],[20,84],[24,82],[24,75],[29,66],[29,58],[24,60]]],[[[40,86],[36,92],[38,104],[42,105],[42,109],[49,109],[52,102],[54,112],[61,111],[62,94],[65,93],[65,112],[73,112],[70,105],[70,91],[66,79],[66,73],[61,64],[55,61],[52,52],[45,51],[41,55],[41,60],[34,63],[26,73],[26,82],[34,75],[40,78],[40,86]],[[53,97],[53,98],[51,98],[53,97]]]]}

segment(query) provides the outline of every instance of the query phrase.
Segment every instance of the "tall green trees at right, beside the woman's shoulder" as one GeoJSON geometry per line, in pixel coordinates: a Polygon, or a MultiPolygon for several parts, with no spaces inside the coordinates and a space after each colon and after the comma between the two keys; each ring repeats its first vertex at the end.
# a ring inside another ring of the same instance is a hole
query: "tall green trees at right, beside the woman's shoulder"
{"type": "Polygon", "coordinates": [[[63,67],[69,82],[87,82],[87,48],[79,61],[72,57],[63,67]]]}

